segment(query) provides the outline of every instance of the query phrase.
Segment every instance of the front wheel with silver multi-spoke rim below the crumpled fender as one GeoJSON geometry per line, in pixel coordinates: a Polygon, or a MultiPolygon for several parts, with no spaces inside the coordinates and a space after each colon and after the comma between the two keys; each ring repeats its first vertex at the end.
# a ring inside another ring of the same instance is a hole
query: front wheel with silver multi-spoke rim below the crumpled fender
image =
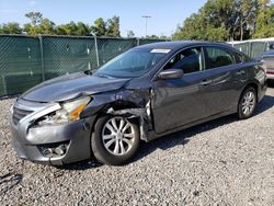
{"type": "Polygon", "coordinates": [[[139,142],[138,125],[122,116],[100,117],[91,136],[95,159],[111,165],[127,163],[137,152],[139,142]]]}

